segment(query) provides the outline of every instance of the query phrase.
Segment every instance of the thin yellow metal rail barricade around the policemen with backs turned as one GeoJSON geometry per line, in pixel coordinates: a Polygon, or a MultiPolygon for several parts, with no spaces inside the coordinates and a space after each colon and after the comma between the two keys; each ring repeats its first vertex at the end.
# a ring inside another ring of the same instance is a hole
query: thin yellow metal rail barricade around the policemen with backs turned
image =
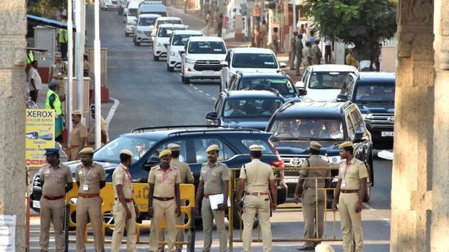
{"type": "MultiPolygon", "coordinates": [[[[279,170],[283,170],[283,171],[294,171],[294,172],[298,172],[298,177],[299,177],[299,171],[301,170],[307,170],[307,169],[325,169],[325,170],[338,170],[339,166],[338,165],[333,165],[333,166],[329,166],[329,167],[286,167],[284,169],[279,169],[279,168],[273,168],[273,171],[279,171],[279,170]]],[[[229,169],[229,200],[231,201],[231,207],[229,208],[229,251],[233,251],[233,243],[234,242],[242,242],[242,218],[240,218],[238,221],[240,222],[239,224],[239,238],[234,238],[233,234],[233,224],[234,224],[234,218],[233,218],[233,211],[234,211],[234,194],[236,193],[238,186],[239,186],[239,178],[237,177],[237,172],[240,172],[240,168],[233,168],[233,169],[229,169]]],[[[318,216],[318,192],[319,191],[324,191],[324,223],[323,223],[323,236],[321,238],[275,238],[272,239],[273,242],[298,242],[298,241],[310,241],[310,242],[321,242],[321,241],[343,241],[342,238],[340,237],[336,237],[336,214],[333,213],[333,219],[332,219],[332,226],[333,226],[333,232],[331,234],[331,236],[329,236],[329,233],[327,231],[327,199],[328,199],[328,193],[329,191],[334,191],[334,188],[318,188],[318,180],[319,179],[323,179],[323,178],[314,178],[315,179],[315,195],[316,195],[316,216],[318,216]]],[[[333,179],[333,177],[326,177],[325,179],[333,179]]],[[[279,207],[278,209],[281,208],[282,209],[282,205],[279,207]]],[[[301,208],[302,211],[302,208],[301,208]]],[[[318,230],[319,224],[319,220],[316,219],[315,221],[315,230],[318,230]]],[[[273,224],[272,224],[273,225],[273,224]]],[[[260,226],[258,226],[258,231],[257,231],[257,238],[253,239],[253,242],[262,242],[262,238],[261,238],[261,232],[260,232],[260,226]]]]}

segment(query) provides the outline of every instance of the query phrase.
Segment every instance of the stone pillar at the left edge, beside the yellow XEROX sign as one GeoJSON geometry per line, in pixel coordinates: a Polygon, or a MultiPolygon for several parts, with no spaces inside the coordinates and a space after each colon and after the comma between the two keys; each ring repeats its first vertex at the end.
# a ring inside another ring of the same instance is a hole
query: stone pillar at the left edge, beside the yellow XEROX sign
{"type": "Polygon", "coordinates": [[[0,0],[0,216],[16,216],[16,251],[25,251],[26,1],[0,0]]]}

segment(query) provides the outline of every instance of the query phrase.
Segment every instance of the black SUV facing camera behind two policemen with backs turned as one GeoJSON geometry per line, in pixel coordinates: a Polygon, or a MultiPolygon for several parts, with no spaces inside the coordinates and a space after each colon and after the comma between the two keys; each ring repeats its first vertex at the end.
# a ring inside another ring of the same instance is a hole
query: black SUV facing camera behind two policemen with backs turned
{"type": "MultiPolygon", "coordinates": [[[[272,116],[267,126],[272,132],[270,141],[279,152],[285,166],[299,167],[309,157],[309,142],[319,142],[321,158],[330,164],[342,162],[339,144],[345,141],[354,143],[354,155],[368,167],[368,188],[364,201],[368,201],[373,187],[373,143],[371,134],[357,105],[346,103],[294,103],[284,104],[272,116]]],[[[287,196],[293,196],[298,181],[298,172],[284,172],[287,196]]],[[[338,176],[333,170],[332,176],[338,176]]],[[[333,180],[333,185],[336,185],[333,180]]]]}

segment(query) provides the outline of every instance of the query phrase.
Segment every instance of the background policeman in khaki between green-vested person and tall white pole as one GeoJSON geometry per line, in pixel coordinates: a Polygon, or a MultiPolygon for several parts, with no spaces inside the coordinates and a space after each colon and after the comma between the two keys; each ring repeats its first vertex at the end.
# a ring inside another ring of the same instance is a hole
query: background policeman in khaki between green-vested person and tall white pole
{"type": "Polygon", "coordinates": [[[87,129],[81,122],[81,111],[72,112],[73,129],[69,134],[69,154],[68,161],[78,160],[81,149],[86,145],[87,129]]]}

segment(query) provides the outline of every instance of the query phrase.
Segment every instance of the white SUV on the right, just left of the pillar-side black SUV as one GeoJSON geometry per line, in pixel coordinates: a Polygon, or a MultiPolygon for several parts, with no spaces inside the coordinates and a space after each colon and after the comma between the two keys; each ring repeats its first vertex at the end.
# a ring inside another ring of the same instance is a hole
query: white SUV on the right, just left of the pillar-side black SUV
{"type": "Polygon", "coordinates": [[[303,102],[331,102],[339,95],[348,73],[357,73],[352,65],[310,65],[304,71],[296,88],[303,88],[307,95],[303,102]]]}

